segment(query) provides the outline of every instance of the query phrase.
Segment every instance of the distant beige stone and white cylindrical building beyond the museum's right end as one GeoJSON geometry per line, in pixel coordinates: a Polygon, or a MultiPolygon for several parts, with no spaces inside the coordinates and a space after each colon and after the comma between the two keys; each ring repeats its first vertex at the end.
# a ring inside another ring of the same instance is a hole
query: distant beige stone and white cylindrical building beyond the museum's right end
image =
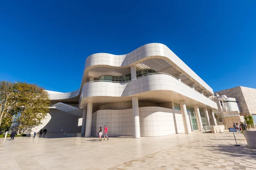
{"type": "MultiPolygon", "coordinates": [[[[216,121],[219,125],[233,127],[233,123],[244,122],[244,116],[256,115],[256,89],[235,87],[215,92],[216,121]]],[[[254,128],[254,127],[253,127],[254,128]]]]}

